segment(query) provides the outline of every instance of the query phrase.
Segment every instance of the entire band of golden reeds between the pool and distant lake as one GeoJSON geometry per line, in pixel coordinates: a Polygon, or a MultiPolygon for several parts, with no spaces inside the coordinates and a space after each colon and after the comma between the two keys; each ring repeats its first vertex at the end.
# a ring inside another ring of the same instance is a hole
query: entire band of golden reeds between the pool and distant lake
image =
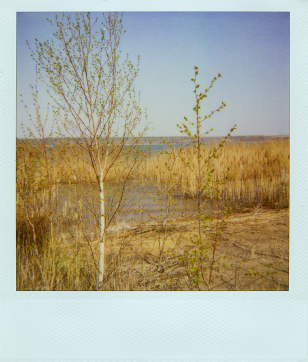
{"type": "MultiPolygon", "coordinates": [[[[191,168],[195,169],[197,160],[193,156],[190,145],[141,145],[139,156],[140,167],[131,174],[130,180],[142,181],[163,187],[170,177],[174,183],[175,192],[194,195],[196,179],[191,172],[183,167],[179,153],[190,159],[191,168]],[[182,147],[182,148],[181,148],[182,147]],[[181,151],[180,151],[181,150],[181,151]],[[167,152],[167,153],[166,153],[167,152]],[[168,165],[173,162],[172,174],[168,165]]],[[[25,164],[33,164],[32,186],[44,189],[47,179],[44,167],[43,153],[40,143],[32,144],[18,141],[17,180],[25,177],[25,164]]],[[[201,154],[205,156],[213,152],[214,145],[203,145],[201,154]]],[[[260,143],[230,143],[219,150],[220,157],[213,159],[213,180],[222,180],[227,174],[227,191],[224,197],[233,203],[247,206],[256,204],[275,208],[288,207],[289,202],[289,139],[276,138],[260,143]]],[[[53,172],[49,175],[50,182],[55,184],[95,183],[96,176],[89,165],[88,155],[78,146],[64,143],[50,146],[50,162],[53,172]]],[[[122,157],[115,162],[105,181],[120,181],[129,170],[134,155],[122,157]]],[[[112,160],[110,161],[112,162],[112,160]]],[[[205,182],[205,180],[203,180],[205,182]]],[[[210,197],[210,195],[209,195],[210,197]]]]}

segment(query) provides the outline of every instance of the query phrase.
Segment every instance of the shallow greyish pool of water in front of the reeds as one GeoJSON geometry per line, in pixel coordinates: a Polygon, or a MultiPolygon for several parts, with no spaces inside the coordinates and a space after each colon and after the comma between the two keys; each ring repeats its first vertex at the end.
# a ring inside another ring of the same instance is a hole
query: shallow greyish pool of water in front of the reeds
{"type": "MultiPolygon", "coordinates": [[[[83,229],[91,239],[98,238],[97,222],[99,220],[99,190],[96,184],[59,185],[58,211],[62,220],[67,219],[67,235],[74,234],[74,225],[83,223],[83,229]],[[80,216],[80,217],[79,217],[80,216]]],[[[167,216],[167,201],[158,188],[149,185],[130,183],[123,195],[119,184],[108,182],[105,184],[105,212],[108,230],[113,230],[116,225],[128,228],[140,223],[161,222],[167,216]],[[119,205],[119,200],[121,203],[119,205]],[[117,211],[115,213],[115,211],[117,211]]],[[[214,214],[210,205],[205,212],[214,214]]],[[[183,198],[180,194],[173,195],[173,204],[169,210],[168,220],[191,217],[196,214],[196,202],[183,198]]],[[[86,237],[86,235],[85,235],[86,237]]],[[[88,236],[87,236],[88,237],[88,236]]]]}

